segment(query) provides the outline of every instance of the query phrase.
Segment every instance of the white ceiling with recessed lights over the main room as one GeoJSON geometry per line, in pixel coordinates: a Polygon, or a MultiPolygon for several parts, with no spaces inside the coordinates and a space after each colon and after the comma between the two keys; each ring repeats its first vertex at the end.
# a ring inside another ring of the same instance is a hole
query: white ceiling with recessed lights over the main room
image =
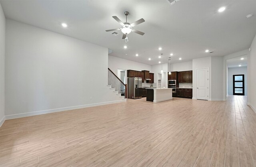
{"type": "Polygon", "coordinates": [[[108,47],[110,55],[149,65],[190,61],[193,58],[222,56],[248,49],[256,33],[256,0],[0,0],[6,18],[48,29],[57,33],[108,47]],[[218,13],[218,8],[226,10],[218,13]],[[145,35],[128,34],[125,43],[120,35],[106,29],[121,28],[112,18],[145,22],[134,29],[145,35]],[[253,13],[250,19],[246,15],[253,13]],[[61,23],[68,24],[62,28],[61,23]],[[123,46],[128,48],[124,49],[123,46]],[[162,47],[162,51],[158,50],[162,47]],[[209,49],[214,53],[205,53],[209,49]],[[139,56],[136,57],[135,54],[139,56]],[[127,55],[126,55],[127,54],[127,55]],[[148,58],[151,61],[148,61],[148,58]]]}

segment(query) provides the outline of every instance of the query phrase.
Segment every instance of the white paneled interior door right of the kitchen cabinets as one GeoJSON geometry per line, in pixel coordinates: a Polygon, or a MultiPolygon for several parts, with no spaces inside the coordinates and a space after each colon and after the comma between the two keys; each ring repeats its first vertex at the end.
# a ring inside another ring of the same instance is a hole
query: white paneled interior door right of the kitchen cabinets
{"type": "Polygon", "coordinates": [[[196,69],[196,99],[208,100],[208,68],[196,69]]]}

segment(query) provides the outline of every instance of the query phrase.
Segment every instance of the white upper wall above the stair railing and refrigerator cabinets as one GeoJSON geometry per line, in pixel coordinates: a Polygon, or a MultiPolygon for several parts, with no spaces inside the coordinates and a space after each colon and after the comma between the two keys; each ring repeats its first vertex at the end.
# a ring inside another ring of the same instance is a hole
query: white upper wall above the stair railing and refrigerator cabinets
{"type": "Polygon", "coordinates": [[[116,75],[117,69],[136,71],[148,70],[150,71],[150,73],[152,73],[151,65],[138,63],[136,61],[130,61],[127,59],[122,59],[110,55],[108,56],[108,68],[110,68],[110,70],[113,71],[116,75]]]}

